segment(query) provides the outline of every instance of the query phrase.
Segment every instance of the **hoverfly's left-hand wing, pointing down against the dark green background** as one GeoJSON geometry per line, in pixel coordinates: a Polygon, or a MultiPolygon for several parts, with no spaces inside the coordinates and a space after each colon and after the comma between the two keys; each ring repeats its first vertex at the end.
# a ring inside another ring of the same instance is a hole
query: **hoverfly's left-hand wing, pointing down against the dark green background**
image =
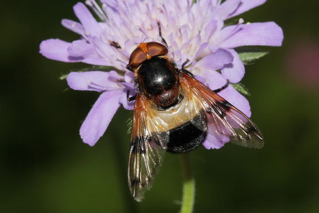
{"type": "Polygon", "coordinates": [[[168,133],[160,130],[164,124],[153,117],[148,104],[148,99],[137,94],[128,159],[128,185],[136,201],[141,201],[152,186],[169,140],[168,133]]]}

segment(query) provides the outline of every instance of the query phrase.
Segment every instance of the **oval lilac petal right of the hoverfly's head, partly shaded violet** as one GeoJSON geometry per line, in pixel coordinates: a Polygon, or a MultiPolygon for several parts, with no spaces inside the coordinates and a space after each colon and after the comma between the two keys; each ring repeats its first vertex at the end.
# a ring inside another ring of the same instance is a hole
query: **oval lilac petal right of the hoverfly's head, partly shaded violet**
{"type": "Polygon", "coordinates": [[[202,70],[217,70],[231,63],[234,60],[232,53],[225,49],[218,49],[214,53],[199,60],[195,67],[200,67],[202,70]]]}

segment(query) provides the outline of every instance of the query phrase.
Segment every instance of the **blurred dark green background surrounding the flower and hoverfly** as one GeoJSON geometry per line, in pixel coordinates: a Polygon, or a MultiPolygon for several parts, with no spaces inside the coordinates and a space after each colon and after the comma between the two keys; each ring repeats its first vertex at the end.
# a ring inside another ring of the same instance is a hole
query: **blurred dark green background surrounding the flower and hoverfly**
{"type": "MultiPolygon", "coordinates": [[[[42,40],[78,38],[60,25],[76,19],[76,2],[1,2],[0,212],[178,212],[178,155],[166,155],[144,202],[130,197],[131,112],[121,108],[96,146],[80,140],[98,94],[59,80],[83,65],[38,53],[42,40]]],[[[270,0],[241,16],[275,21],[285,34],[284,45],[246,67],[243,79],[265,147],[193,151],[195,212],[319,212],[318,8],[319,1],[270,0]]]]}

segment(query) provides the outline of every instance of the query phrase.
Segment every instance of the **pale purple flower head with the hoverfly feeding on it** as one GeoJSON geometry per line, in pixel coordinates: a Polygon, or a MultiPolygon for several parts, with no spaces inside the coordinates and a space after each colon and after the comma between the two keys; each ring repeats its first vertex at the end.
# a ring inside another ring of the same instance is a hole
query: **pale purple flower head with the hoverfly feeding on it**
{"type": "MultiPolygon", "coordinates": [[[[126,100],[126,91],[135,93],[132,73],[126,69],[130,53],[141,42],[160,42],[157,22],[169,45],[169,57],[178,66],[189,60],[187,69],[199,76],[212,90],[230,83],[239,83],[245,67],[234,51],[238,46],[281,46],[282,29],[274,22],[233,26],[224,21],[255,8],[266,0],[101,0],[86,1],[101,19],[97,22],[83,3],[74,6],[74,22],[63,19],[62,25],[81,37],[74,42],[44,40],[40,53],[63,62],[85,62],[90,65],[114,67],[116,71],[72,72],[67,77],[74,90],[101,92],[80,128],[83,141],[93,146],[103,135],[114,113],[122,104],[132,110],[134,103],[126,100]],[[116,45],[114,45],[116,44],[116,45]],[[121,48],[119,48],[121,47],[121,48]]],[[[219,93],[250,117],[250,105],[232,85],[219,93]]],[[[206,148],[220,148],[227,140],[207,137],[206,148]]]]}

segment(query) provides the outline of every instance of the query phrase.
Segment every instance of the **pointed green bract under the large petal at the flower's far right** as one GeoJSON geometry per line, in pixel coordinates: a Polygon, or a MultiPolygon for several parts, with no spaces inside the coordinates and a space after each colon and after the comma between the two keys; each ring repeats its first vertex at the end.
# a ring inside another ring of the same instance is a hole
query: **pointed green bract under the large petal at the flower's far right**
{"type": "Polygon", "coordinates": [[[236,48],[235,50],[239,54],[239,58],[244,65],[249,65],[270,52],[269,49],[261,46],[243,46],[236,48]]]}

